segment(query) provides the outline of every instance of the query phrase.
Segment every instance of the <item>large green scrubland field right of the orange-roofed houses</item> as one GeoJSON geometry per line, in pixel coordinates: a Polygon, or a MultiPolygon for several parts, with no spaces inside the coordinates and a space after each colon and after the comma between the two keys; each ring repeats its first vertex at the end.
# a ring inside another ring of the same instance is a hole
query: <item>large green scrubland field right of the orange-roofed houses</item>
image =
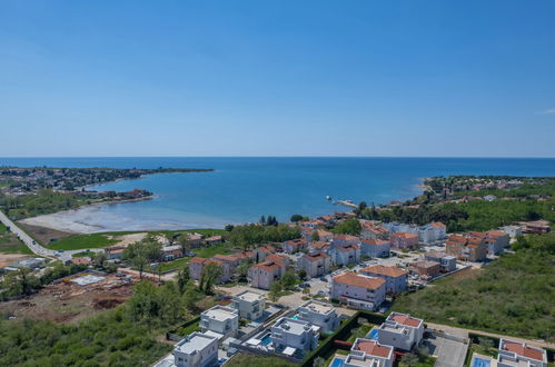
{"type": "Polygon", "coordinates": [[[555,340],[555,234],[526,236],[478,274],[455,275],[396,299],[425,320],[555,340]]]}

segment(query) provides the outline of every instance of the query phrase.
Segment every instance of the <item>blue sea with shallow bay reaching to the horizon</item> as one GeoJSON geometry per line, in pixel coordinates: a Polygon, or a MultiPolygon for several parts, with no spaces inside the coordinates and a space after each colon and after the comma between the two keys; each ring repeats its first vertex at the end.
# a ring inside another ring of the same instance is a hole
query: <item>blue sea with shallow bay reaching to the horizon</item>
{"type": "Polygon", "coordinates": [[[93,190],[142,188],[152,200],[73,212],[106,230],[222,227],[272,215],[317,216],[346,210],[326,200],[386,204],[420,194],[425,177],[555,176],[555,159],[517,158],[0,158],[2,166],[214,168],[214,172],[149,175],[93,190]]]}

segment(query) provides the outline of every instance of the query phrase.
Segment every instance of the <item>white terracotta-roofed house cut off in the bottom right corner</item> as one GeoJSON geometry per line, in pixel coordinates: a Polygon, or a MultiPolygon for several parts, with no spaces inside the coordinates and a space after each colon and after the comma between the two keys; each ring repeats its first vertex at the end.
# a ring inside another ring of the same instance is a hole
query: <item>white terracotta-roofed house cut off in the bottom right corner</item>
{"type": "Polygon", "coordinates": [[[525,343],[502,338],[499,340],[497,366],[547,367],[547,353],[541,348],[529,347],[525,343]]]}

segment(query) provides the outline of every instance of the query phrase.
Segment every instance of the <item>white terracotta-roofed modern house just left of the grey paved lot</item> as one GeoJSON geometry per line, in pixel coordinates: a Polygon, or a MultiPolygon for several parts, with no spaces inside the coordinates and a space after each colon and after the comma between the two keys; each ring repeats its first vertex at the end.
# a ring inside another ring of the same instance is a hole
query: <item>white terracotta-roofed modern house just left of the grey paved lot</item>
{"type": "Polygon", "coordinates": [[[410,315],[392,313],[379,326],[378,341],[397,349],[410,350],[424,337],[424,321],[410,315]]]}

